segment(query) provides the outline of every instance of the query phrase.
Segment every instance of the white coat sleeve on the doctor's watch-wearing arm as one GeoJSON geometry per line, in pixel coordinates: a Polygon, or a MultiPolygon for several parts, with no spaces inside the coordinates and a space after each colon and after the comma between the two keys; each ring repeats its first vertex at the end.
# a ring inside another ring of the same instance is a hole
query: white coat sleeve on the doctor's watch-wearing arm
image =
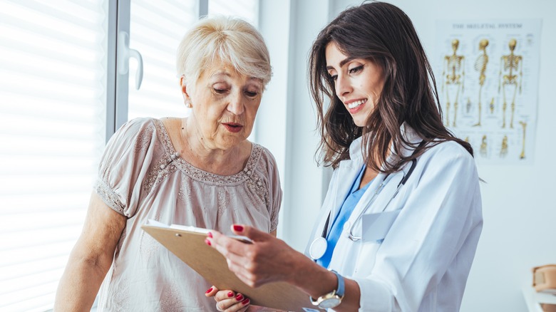
{"type": "Polygon", "coordinates": [[[439,301],[463,296],[483,218],[475,161],[456,145],[444,142],[418,160],[371,275],[355,278],[361,311],[418,311],[428,293],[444,286],[451,296],[439,301]]]}

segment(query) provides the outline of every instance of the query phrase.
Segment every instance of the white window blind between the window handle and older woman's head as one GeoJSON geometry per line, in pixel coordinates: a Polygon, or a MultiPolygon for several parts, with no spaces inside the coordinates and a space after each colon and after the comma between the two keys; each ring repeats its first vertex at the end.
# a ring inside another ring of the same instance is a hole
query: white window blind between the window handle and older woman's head
{"type": "Polygon", "coordinates": [[[176,75],[177,46],[197,21],[197,1],[132,0],[130,48],[143,56],[143,84],[135,90],[135,60],[130,61],[128,119],[138,117],[184,117],[176,75]]]}

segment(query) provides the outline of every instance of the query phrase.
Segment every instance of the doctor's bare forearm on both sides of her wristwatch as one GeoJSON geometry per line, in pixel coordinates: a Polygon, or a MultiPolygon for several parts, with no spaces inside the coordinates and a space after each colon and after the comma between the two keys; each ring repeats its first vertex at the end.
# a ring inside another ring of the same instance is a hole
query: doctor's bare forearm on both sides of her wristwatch
{"type": "MultiPolygon", "coordinates": [[[[300,257],[297,265],[292,266],[291,276],[290,283],[301,288],[313,298],[319,298],[319,296],[323,296],[338,287],[336,274],[315,264],[306,256],[300,257]]],[[[359,309],[359,299],[361,298],[359,284],[345,277],[344,283],[344,299],[339,306],[334,308],[334,311],[356,311],[359,309]]]]}

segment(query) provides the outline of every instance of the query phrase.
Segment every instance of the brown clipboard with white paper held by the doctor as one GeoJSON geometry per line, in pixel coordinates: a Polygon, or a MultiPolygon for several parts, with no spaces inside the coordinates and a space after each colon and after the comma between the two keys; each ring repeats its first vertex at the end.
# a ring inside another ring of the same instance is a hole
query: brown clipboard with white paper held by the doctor
{"type": "Polygon", "coordinates": [[[144,224],[141,228],[218,289],[242,293],[256,306],[283,311],[321,311],[312,305],[306,293],[286,282],[264,284],[257,288],[244,284],[228,269],[225,257],[205,244],[209,230],[194,227],[178,229],[166,224],[144,224]]]}

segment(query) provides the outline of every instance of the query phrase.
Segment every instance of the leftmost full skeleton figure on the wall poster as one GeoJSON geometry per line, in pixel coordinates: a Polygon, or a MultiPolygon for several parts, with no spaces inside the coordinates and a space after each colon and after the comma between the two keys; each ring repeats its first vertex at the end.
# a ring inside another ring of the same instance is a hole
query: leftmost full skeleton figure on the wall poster
{"type": "Polygon", "coordinates": [[[450,125],[450,94],[455,93],[452,124],[454,127],[458,117],[458,98],[460,90],[463,92],[463,80],[465,78],[465,56],[458,56],[455,53],[458,50],[459,45],[460,41],[458,39],[454,39],[452,41],[453,53],[449,56],[444,56],[444,68],[442,73],[442,76],[445,79],[445,83],[443,83],[442,88],[444,89],[444,85],[446,85],[446,125],[450,125]]]}

